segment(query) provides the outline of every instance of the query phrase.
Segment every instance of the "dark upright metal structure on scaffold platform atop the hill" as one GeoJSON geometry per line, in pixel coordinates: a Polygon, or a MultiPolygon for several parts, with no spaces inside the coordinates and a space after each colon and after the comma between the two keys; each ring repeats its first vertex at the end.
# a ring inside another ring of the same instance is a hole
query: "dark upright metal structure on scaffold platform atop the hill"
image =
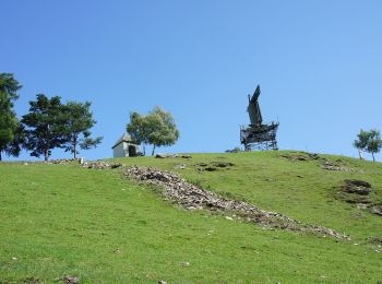
{"type": "Polygon", "coordinates": [[[259,105],[260,94],[260,85],[258,85],[252,97],[248,95],[249,104],[247,110],[251,123],[240,127],[240,143],[244,145],[246,151],[278,150],[276,134],[279,123],[274,121],[263,123],[259,105]]]}

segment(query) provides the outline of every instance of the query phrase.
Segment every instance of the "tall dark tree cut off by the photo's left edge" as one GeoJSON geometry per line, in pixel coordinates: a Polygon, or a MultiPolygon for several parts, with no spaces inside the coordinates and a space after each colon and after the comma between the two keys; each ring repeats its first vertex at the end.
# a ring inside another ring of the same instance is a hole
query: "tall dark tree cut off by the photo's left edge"
{"type": "Polygon", "coordinates": [[[20,140],[15,140],[21,128],[13,111],[13,102],[19,98],[21,87],[13,74],[0,73],[0,161],[2,153],[17,156],[21,151],[20,140]]]}

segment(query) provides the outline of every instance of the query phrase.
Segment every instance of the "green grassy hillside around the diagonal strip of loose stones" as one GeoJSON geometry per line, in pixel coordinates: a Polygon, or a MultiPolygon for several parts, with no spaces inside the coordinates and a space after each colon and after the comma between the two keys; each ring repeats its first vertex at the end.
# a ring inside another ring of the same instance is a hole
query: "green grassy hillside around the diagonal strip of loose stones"
{"type": "Polygon", "coordinates": [[[211,191],[351,240],[189,212],[120,169],[1,163],[0,283],[55,283],[64,275],[81,283],[382,281],[382,216],[349,203],[381,204],[381,163],[297,152],[112,162],[178,171],[211,191]],[[323,169],[325,163],[342,170],[323,169]],[[343,193],[345,179],[368,181],[372,192],[343,193]]]}

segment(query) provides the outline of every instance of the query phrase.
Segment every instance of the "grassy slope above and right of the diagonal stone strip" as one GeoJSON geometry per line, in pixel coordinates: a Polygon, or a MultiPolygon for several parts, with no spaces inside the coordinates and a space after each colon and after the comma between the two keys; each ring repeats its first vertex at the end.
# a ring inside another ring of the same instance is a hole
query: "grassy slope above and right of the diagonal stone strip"
{"type": "Polygon", "coordinates": [[[178,171],[187,180],[223,196],[246,200],[298,221],[331,227],[357,240],[382,237],[382,216],[357,209],[341,200],[338,194],[344,180],[360,179],[373,187],[369,199],[382,204],[382,163],[331,155],[320,157],[322,159],[313,159],[302,152],[278,151],[193,154],[191,159],[136,157],[112,161],[127,166],[144,165],[178,171]],[[326,162],[353,171],[323,169],[326,162]],[[218,163],[232,163],[234,166],[214,166],[218,163]],[[182,164],[184,169],[177,168],[182,164]],[[206,167],[217,170],[207,171],[206,167]]]}

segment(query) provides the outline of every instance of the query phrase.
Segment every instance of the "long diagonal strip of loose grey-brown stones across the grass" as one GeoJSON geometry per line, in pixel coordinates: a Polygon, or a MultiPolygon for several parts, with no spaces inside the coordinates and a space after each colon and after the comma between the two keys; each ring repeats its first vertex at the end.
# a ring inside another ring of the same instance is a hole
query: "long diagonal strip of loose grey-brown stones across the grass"
{"type": "Polygon", "coordinates": [[[247,202],[220,197],[187,182],[175,173],[159,170],[154,167],[134,166],[128,168],[126,175],[134,180],[163,188],[163,194],[166,199],[187,210],[208,210],[230,214],[234,218],[256,223],[265,227],[314,232],[335,238],[347,238],[347,236],[330,228],[302,224],[282,213],[266,212],[247,202]]]}

